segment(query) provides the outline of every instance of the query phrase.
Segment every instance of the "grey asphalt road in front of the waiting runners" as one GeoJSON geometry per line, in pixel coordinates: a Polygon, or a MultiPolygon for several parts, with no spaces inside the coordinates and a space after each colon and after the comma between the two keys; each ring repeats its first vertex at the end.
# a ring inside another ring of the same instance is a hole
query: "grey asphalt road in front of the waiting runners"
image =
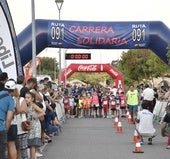
{"type": "Polygon", "coordinates": [[[117,133],[113,123],[114,119],[68,119],[63,132],[45,147],[41,159],[170,159],[160,124],[155,123],[157,136],[153,145],[144,138],[144,153],[133,153],[134,125],[123,118],[122,133],[117,133]]]}

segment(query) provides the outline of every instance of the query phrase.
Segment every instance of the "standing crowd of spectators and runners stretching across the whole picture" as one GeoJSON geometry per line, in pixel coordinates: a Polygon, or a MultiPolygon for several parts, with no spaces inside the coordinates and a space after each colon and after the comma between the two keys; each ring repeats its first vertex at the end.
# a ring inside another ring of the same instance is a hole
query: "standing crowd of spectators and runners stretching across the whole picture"
{"type": "MultiPolygon", "coordinates": [[[[137,108],[134,109],[132,98],[129,99],[133,95],[134,86],[130,86],[127,92],[121,86],[57,86],[48,78],[40,81],[30,78],[25,81],[21,75],[15,81],[8,79],[8,74],[3,72],[0,74],[0,104],[5,103],[5,109],[0,108],[0,154],[3,159],[6,159],[6,154],[8,159],[35,159],[36,156],[43,156],[41,146],[51,142],[53,136],[62,129],[56,103],[63,105],[64,115],[70,119],[125,117],[127,110],[131,110],[133,115],[133,111],[142,109],[140,106],[143,101],[152,113],[156,100],[170,101],[169,88],[161,87],[157,90],[149,85],[140,85],[135,90],[135,99],[139,103],[135,103],[137,108]],[[1,94],[7,96],[1,97],[1,94]],[[25,120],[32,123],[29,131],[22,129],[25,120]]],[[[134,114],[134,119],[135,116],[137,114],[134,114]]]]}

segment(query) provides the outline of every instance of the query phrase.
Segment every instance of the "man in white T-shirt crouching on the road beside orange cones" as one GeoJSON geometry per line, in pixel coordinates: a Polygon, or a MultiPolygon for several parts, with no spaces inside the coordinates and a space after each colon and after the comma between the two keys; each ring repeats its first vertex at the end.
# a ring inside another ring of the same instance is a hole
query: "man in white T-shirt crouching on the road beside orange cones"
{"type": "Polygon", "coordinates": [[[142,103],[142,110],[137,113],[136,130],[141,137],[141,144],[143,144],[143,137],[149,137],[148,144],[152,145],[156,130],[153,126],[153,113],[148,110],[146,102],[142,103]]]}

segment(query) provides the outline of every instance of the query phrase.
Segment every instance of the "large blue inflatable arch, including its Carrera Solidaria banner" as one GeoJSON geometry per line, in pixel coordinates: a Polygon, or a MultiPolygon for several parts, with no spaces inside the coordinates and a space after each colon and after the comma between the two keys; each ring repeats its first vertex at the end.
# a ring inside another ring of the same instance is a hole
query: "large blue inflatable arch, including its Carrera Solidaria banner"
{"type": "MultiPolygon", "coordinates": [[[[170,30],[161,21],[82,22],[37,19],[36,54],[46,47],[76,49],[151,49],[168,64],[170,30]]],[[[21,62],[32,59],[32,27],[18,34],[21,62]]]]}

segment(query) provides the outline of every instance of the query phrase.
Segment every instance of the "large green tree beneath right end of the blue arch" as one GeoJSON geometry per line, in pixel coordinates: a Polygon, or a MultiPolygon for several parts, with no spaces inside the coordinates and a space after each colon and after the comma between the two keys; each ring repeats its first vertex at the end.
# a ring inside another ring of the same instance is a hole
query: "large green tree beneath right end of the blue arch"
{"type": "Polygon", "coordinates": [[[125,83],[140,83],[143,79],[161,77],[169,67],[151,50],[129,50],[123,52],[119,61],[119,71],[125,77],[125,83]]]}

